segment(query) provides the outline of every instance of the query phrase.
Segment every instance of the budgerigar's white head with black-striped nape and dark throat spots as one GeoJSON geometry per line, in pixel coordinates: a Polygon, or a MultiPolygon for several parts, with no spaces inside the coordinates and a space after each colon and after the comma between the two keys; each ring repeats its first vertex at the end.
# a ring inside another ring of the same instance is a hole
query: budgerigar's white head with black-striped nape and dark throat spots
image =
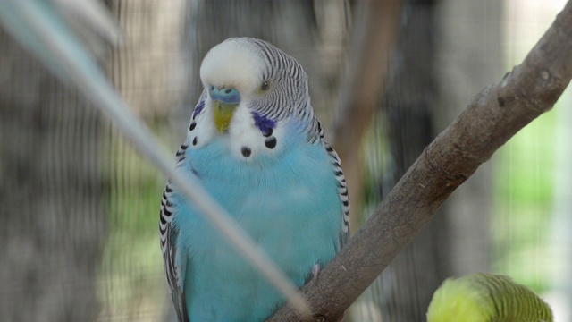
{"type": "Polygon", "coordinates": [[[308,138],[318,135],[306,72],[268,42],[225,40],[206,54],[200,78],[204,107],[193,115],[197,123],[191,128],[200,133],[194,145],[222,138],[235,157],[248,161],[279,153],[291,137],[289,131],[308,138]]]}

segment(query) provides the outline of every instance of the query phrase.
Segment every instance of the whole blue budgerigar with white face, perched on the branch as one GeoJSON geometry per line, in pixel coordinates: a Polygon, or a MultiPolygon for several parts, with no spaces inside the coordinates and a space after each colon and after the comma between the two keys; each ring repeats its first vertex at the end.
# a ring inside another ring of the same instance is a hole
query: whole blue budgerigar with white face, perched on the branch
{"type": "MultiPolygon", "coordinates": [[[[307,74],[268,42],[230,38],[206,54],[200,78],[177,173],[200,183],[301,287],[349,234],[340,159],[315,117],[307,74]]],[[[171,183],[160,233],[180,321],[264,320],[284,303],[171,183]]]]}

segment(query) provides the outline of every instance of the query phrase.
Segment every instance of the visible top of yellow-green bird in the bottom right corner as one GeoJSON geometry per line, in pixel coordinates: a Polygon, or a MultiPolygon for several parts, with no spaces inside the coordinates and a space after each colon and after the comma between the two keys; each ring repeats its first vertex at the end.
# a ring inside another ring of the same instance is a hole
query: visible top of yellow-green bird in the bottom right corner
{"type": "Polygon", "coordinates": [[[508,276],[476,273],[449,278],[433,294],[428,322],[551,322],[551,308],[508,276]]]}

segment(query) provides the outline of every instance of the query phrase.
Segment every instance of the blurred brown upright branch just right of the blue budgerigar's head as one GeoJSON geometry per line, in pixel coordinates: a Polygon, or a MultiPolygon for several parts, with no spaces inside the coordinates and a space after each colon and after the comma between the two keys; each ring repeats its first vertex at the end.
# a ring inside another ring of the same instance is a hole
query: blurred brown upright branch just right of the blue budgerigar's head
{"type": "MultiPolygon", "coordinates": [[[[401,0],[368,0],[357,4],[349,46],[349,64],[340,86],[339,106],[327,138],[343,160],[352,214],[359,214],[360,142],[374,119],[389,71],[391,47],[401,16],[401,0]],[[348,124],[358,124],[348,126],[348,124]]],[[[352,226],[357,216],[350,216],[352,226]]]]}

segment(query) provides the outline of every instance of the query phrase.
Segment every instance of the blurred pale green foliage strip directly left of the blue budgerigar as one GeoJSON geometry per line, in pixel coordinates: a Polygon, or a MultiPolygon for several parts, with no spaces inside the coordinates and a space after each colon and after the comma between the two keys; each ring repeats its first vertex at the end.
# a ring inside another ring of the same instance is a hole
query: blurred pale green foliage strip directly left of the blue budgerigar
{"type": "MultiPolygon", "coordinates": [[[[164,125],[163,125],[164,126],[164,125]]],[[[161,123],[154,130],[161,135],[161,123]]],[[[103,156],[109,174],[109,227],[99,274],[100,320],[163,320],[170,308],[159,246],[158,213],[166,179],[112,131],[103,156]],[[150,292],[151,291],[151,292],[150,292]],[[162,301],[163,300],[163,301],[162,301]]],[[[166,139],[165,139],[166,140],[166,139]]]]}

